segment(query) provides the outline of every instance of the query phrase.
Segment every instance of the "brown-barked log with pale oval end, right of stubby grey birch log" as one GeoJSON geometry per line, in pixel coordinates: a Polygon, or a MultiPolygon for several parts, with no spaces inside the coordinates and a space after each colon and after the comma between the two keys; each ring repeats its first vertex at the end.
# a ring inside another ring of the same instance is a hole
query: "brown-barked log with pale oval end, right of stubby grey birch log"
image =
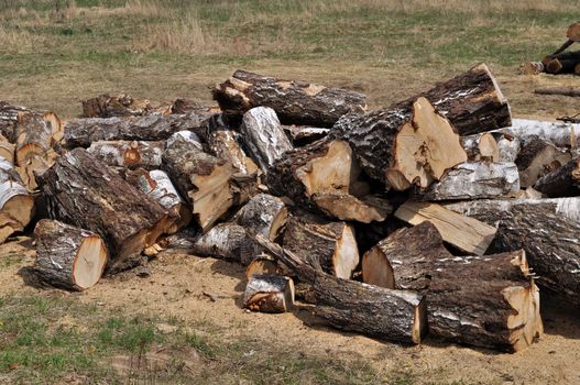
{"type": "Polygon", "coordinates": [[[349,279],[359,264],[354,231],[344,222],[291,217],[283,243],[310,265],[339,278],[349,279]]]}

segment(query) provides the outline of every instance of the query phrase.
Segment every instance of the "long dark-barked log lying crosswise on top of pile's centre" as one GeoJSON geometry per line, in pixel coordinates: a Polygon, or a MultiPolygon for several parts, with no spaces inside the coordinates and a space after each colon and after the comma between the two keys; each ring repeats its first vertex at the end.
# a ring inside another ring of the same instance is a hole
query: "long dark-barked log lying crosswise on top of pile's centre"
{"type": "Polygon", "coordinates": [[[284,124],[331,127],[349,112],[363,112],[366,97],[340,88],[288,81],[237,70],[214,89],[226,114],[241,116],[254,107],[270,107],[284,124]]]}

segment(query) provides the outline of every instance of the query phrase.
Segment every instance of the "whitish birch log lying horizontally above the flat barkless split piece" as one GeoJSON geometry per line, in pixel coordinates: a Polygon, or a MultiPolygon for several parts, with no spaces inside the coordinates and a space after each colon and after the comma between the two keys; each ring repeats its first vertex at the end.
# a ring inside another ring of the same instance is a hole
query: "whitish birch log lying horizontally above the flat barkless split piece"
{"type": "Polygon", "coordinates": [[[519,174],[513,163],[469,162],[447,172],[427,190],[422,200],[460,200],[494,198],[519,191],[519,174]]]}

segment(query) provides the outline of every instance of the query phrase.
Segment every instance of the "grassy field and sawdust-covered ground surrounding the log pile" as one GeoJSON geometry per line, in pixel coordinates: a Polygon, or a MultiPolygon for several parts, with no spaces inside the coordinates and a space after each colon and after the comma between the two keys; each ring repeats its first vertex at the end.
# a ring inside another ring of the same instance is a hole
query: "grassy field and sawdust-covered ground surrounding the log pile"
{"type": "MultiPolygon", "coordinates": [[[[578,101],[532,90],[578,80],[517,67],[577,20],[576,0],[0,0],[0,100],[64,118],[109,91],[209,103],[243,68],[361,90],[377,107],[485,62],[515,116],[555,119],[578,101]]],[[[167,255],[150,278],[128,273],[83,295],[39,289],[32,261],[28,239],[0,246],[0,383],[580,382],[580,322],[554,305],[547,337],[521,354],[405,348],[326,329],[307,309],[248,315],[243,270],[210,258],[167,255]],[[158,350],[174,359],[144,359],[158,350]]]]}

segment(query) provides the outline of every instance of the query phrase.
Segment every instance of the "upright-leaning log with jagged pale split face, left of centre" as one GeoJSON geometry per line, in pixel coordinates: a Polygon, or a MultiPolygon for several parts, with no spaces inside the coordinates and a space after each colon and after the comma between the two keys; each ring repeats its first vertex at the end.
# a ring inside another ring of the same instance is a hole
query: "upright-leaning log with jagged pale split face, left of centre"
{"type": "Polygon", "coordinates": [[[229,187],[232,168],[199,147],[199,142],[176,133],[166,142],[163,164],[177,190],[193,207],[194,220],[206,232],[232,205],[229,187]]]}

